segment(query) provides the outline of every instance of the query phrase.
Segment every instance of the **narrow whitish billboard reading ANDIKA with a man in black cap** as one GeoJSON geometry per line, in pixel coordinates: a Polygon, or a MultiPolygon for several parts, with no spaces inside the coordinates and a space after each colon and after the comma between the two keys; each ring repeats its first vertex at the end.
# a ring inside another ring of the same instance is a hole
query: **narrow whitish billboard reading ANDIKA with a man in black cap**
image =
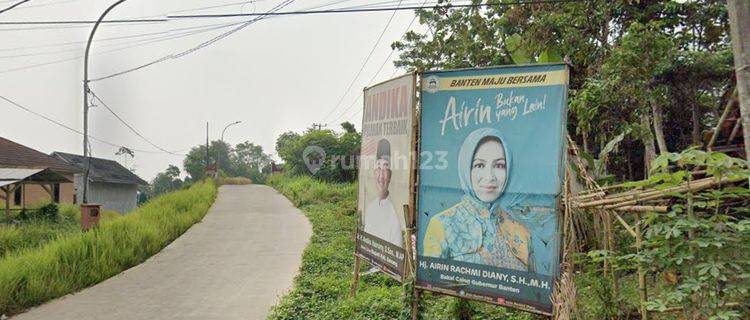
{"type": "Polygon", "coordinates": [[[355,254],[401,281],[404,205],[413,205],[415,74],[364,90],[355,254]]]}

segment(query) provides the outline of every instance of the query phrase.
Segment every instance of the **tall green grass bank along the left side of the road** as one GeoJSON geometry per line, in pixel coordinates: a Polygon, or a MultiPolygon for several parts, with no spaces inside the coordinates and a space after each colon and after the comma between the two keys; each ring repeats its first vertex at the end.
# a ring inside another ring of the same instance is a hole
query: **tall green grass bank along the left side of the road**
{"type": "Polygon", "coordinates": [[[76,292],[143,262],[200,221],[216,193],[213,182],[196,183],[89,232],[60,235],[0,257],[0,315],[76,292]]]}

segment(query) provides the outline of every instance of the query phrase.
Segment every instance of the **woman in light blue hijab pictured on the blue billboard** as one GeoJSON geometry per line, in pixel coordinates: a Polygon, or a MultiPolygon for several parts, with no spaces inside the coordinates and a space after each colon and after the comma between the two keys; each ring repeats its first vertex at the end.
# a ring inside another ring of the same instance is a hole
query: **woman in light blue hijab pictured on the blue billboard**
{"type": "Polygon", "coordinates": [[[509,214],[505,191],[511,156],[500,131],[482,128],[470,133],[461,145],[457,168],[463,196],[430,218],[423,254],[534,271],[530,232],[509,214]]]}

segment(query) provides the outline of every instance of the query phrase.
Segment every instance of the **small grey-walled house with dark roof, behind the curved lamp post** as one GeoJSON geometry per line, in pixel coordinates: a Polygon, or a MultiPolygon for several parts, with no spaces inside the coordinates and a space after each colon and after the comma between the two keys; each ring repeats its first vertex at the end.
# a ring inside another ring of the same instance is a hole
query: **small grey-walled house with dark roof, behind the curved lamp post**
{"type": "MultiPolygon", "coordinates": [[[[90,158],[70,153],[53,152],[52,156],[75,166],[82,172],[89,171],[88,202],[98,203],[106,210],[126,214],[138,206],[138,186],[148,185],[117,161],[90,158]]],[[[74,177],[76,198],[83,199],[83,174],[74,177]]]]}

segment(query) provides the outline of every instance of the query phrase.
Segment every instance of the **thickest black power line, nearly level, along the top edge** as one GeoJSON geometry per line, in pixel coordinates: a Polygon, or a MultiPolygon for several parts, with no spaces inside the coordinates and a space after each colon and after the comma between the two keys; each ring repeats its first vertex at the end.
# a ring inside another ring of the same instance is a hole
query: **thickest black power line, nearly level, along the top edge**
{"type": "MultiPolygon", "coordinates": [[[[474,3],[474,4],[448,4],[435,6],[405,6],[405,7],[378,7],[378,8],[360,8],[360,9],[329,9],[329,10],[308,10],[308,11],[284,11],[266,13],[270,16],[283,15],[306,15],[306,14],[330,14],[330,13],[358,13],[358,12],[378,12],[378,11],[402,11],[402,10],[437,10],[437,9],[461,9],[461,8],[481,8],[493,6],[510,6],[510,5],[532,5],[532,4],[554,4],[569,2],[588,2],[591,0],[529,0],[502,3],[474,3]]],[[[168,15],[169,19],[202,19],[202,18],[233,18],[233,17],[252,17],[264,15],[261,13],[225,13],[225,14],[195,14],[195,15],[168,15]]]]}

